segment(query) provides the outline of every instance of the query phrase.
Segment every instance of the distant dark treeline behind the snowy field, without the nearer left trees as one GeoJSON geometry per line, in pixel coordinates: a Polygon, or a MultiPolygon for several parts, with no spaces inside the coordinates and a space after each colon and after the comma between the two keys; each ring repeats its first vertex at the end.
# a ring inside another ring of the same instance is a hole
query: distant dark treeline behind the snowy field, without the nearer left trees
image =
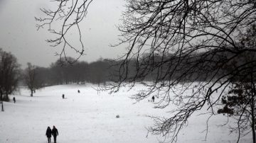
{"type": "MultiPolygon", "coordinates": [[[[219,71],[218,76],[222,76],[224,72],[228,72],[235,68],[235,64],[241,62],[245,62],[240,57],[236,57],[233,60],[230,60],[225,65],[219,65],[217,62],[225,60],[230,55],[228,53],[220,53],[217,55],[210,56],[208,60],[211,60],[214,63],[213,65],[203,65],[205,68],[205,72],[198,73],[196,68],[190,69],[189,66],[193,62],[196,62],[197,58],[199,58],[201,54],[197,54],[182,61],[178,61],[178,57],[173,57],[172,55],[156,55],[154,59],[147,60],[150,56],[144,55],[142,59],[132,59],[129,61],[127,67],[120,68],[122,61],[111,60],[111,59],[99,59],[97,62],[87,63],[87,62],[75,62],[74,64],[68,64],[64,60],[57,60],[55,63],[51,64],[50,67],[36,67],[36,80],[41,81],[44,86],[58,85],[58,84],[105,84],[107,81],[118,81],[119,74],[124,72],[127,73],[127,80],[135,81],[153,81],[154,79],[159,79],[161,81],[165,80],[181,80],[185,82],[189,81],[208,81],[209,71],[213,71],[214,69],[222,70],[219,71]],[[170,59],[173,60],[172,63],[168,62],[170,59]],[[182,62],[181,66],[176,67],[176,62],[182,62]],[[145,63],[147,62],[147,63],[145,63]],[[154,65],[151,66],[151,69],[148,69],[149,63],[154,65]],[[216,63],[215,63],[216,62],[216,63]],[[140,64],[140,66],[137,66],[140,64]],[[164,68],[158,69],[159,64],[163,64],[164,68]],[[218,66],[223,67],[222,69],[217,68],[218,66]],[[140,68],[137,68],[140,67],[140,68]],[[180,75],[176,74],[171,77],[166,76],[172,68],[176,68],[177,70],[187,70],[188,72],[192,72],[193,74],[188,74],[192,76],[188,76],[185,79],[178,79],[180,75]],[[127,72],[126,72],[127,71],[127,72]],[[146,74],[149,73],[150,74],[146,74]],[[163,74],[164,73],[164,74],[163,74]],[[143,76],[143,75],[146,76],[143,76]],[[157,76],[157,78],[156,78],[157,76]],[[143,77],[143,78],[142,78],[143,77]],[[169,79],[171,78],[171,79],[169,79]]],[[[250,53],[244,53],[242,58],[250,57],[250,53]]],[[[69,57],[70,58],[70,57],[69,57]]],[[[255,57],[253,57],[255,58],[255,57]]],[[[207,58],[206,58],[207,59],[207,58]]],[[[200,68],[200,67],[198,67],[200,68]]],[[[218,76],[216,76],[218,78],[218,76]]]]}

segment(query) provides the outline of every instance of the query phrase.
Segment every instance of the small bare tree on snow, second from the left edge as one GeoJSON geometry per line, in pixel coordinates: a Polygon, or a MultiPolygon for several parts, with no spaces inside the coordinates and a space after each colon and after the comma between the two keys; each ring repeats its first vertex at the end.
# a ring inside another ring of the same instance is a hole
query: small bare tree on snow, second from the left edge
{"type": "Polygon", "coordinates": [[[31,91],[31,96],[36,92],[36,89],[43,87],[43,82],[38,78],[38,72],[36,71],[36,66],[33,66],[28,62],[28,67],[25,69],[24,80],[25,84],[31,91]]]}

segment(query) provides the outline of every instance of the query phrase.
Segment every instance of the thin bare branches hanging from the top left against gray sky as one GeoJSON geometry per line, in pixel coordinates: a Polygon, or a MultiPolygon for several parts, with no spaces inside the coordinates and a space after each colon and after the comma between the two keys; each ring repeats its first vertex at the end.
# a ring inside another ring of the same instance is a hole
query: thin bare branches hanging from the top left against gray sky
{"type": "Polygon", "coordinates": [[[61,46],[62,50],[56,52],[60,59],[64,57],[65,61],[70,64],[76,62],[80,56],[85,53],[85,46],[82,42],[82,34],[80,30],[80,22],[87,15],[88,7],[92,0],[53,0],[53,4],[57,4],[55,10],[41,8],[45,14],[45,18],[36,18],[38,24],[36,27],[39,29],[47,27],[50,33],[55,35],[55,38],[46,40],[51,46],[61,46]],[[78,31],[80,46],[75,46],[74,43],[68,39],[68,33],[72,33],[73,29],[78,31]],[[78,53],[78,57],[74,61],[70,61],[67,57],[67,50],[72,50],[78,53]]]}

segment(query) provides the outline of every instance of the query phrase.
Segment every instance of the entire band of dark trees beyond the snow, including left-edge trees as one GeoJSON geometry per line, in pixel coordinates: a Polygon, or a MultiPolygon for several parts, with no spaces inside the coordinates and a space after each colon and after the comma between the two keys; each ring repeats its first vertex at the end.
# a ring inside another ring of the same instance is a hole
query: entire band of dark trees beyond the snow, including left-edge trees
{"type": "MultiPolygon", "coordinates": [[[[203,53],[202,53],[203,55],[203,53]]],[[[242,57],[249,56],[246,52],[242,57]]],[[[165,60],[169,60],[169,58],[174,57],[174,55],[155,55],[154,59],[149,59],[147,54],[144,55],[141,59],[131,59],[127,63],[127,67],[120,66],[122,64],[122,60],[113,60],[113,59],[99,59],[96,62],[74,62],[70,64],[65,59],[58,59],[56,62],[50,64],[50,67],[38,67],[36,65],[32,65],[28,63],[26,69],[21,70],[20,65],[17,62],[16,57],[11,55],[10,52],[4,52],[0,49],[0,98],[1,101],[9,101],[8,95],[12,93],[17,87],[18,82],[27,86],[31,91],[31,96],[36,92],[36,89],[42,88],[44,86],[53,86],[53,85],[61,85],[61,84],[106,84],[108,81],[119,81],[120,74],[123,72],[127,72],[127,82],[129,80],[133,81],[153,81],[153,79],[159,79],[161,81],[169,80],[168,76],[161,73],[166,73],[169,70],[176,69],[188,69],[189,63],[195,61],[200,57],[201,54],[195,54],[194,56],[183,59],[179,67],[176,67],[176,64],[169,64],[165,62],[165,60]],[[159,69],[157,68],[157,61],[161,61],[163,66],[159,69]],[[145,70],[147,69],[147,65],[151,66],[151,74],[146,74],[145,70]],[[139,65],[138,65],[139,64],[139,65]],[[155,65],[155,66],[154,66],[155,65]],[[136,75],[135,75],[136,74],[136,75]],[[146,74],[146,76],[145,76],[146,74]],[[137,79],[132,79],[132,77],[137,76],[137,79]],[[139,78],[141,77],[141,78],[139,78]],[[157,78],[156,78],[157,77],[157,78]]],[[[230,57],[227,53],[223,52],[220,55],[215,55],[214,59],[209,59],[213,61],[220,61],[220,59],[226,59],[230,57]]],[[[251,56],[252,57],[252,56],[251,56]]],[[[72,57],[68,57],[68,61],[73,61],[72,57]]],[[[174,57],[176,58],[176,57],[174,57]]],[[[256,58],[256,57],[252,57],[256,58]]],[[[255,59],[256,60],[256,59],[255,59]]],[[[230,68],[235,65],[235,63],[241,62],[238,58],[230,60],[230,62],[226,63],[227,66],[220,72],[220,75],[215,76],[218,78],[221,76],[221,73],[225,73],[230,70],[230,68]]],[[[213,65],[205,65],[209,68],[213,67],[213,65]]],[[[215,66],[218,66],[216,64],[215,66]]],[[[217,68],[217,67],[216,67],[217,68]]],[[[205,68],[208,70],[208,68],[205,68]]],[[[210,69],[209,69],[210,70],[210,69]]],[[[191,81],[208,81],[208,76],[211,74],[210,72],[193,72],[189,74],[190,76],[183,76],[183,79],[178,79],[180,76],[177,72],[172,76],[172,80],[178,80],[183,82],[191,82],[191,81]]],[[[233,79],[237,80],[237,79],[233,79]]],[[[159,82],[159,81],[154,81],[159,82]]]]}

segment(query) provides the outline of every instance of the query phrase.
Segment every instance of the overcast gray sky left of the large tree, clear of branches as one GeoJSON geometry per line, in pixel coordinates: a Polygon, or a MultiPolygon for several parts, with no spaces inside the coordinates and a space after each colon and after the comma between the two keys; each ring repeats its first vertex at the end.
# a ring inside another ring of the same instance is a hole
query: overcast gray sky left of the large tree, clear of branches
{"type": "MultiPolygon", "coordinates": [[[[35,16],[43,16],[42,7],[50,7],[50,0],[0,0],[0,47],[11,52],[22,67],[27,62],[48,67],[58,57],[60,47],[45,41],[50,38],[47,28],[36,30],[35,16]]],[[[116,25],[124,10],[123,0],[94,0],[82,23],[82,38],[86,55],[80,60],[93,62],[102,58],[116,58],[124,53],[122,47],[109,47],[117,43],[116,25]]],[[[72,55],[71,55],[72,56],[72,55]]],[[[75,56],[75,55],[74,55],[75,56]]]]}

